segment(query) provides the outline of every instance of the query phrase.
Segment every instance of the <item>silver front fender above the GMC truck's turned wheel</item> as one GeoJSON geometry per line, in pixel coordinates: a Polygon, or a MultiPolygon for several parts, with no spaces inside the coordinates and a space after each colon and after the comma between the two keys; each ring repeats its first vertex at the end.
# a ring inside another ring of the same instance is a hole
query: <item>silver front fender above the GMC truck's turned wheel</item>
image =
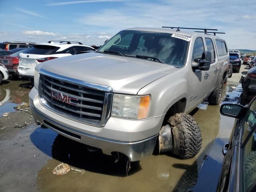
{"type": "Polygon", "coordinates": [[[148,84],[138,95],[151,94],[149,117],[165,114],[172,105],[182,98],[188,98],[186,68],[181,68],[148,84]]]}

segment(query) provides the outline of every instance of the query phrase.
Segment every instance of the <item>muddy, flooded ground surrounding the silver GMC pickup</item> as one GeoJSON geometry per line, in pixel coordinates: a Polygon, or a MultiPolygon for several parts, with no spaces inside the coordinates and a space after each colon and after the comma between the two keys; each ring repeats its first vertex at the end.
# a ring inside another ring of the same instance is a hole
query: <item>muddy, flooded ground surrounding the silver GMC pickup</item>
{"type": "MultiPolygon", "coordinates": [[[[233,74],[224,86],[223,102],[240,102],[241,74],[233,74]]],[[[221,116],[220,106],[196,109],[191,115],[198,122],[203,144],[196,157],[180,160],[167,154],[151,155],[131,164],[64,138],[56,132],[35,126],[30,111],[14,107],[28,103],[31,84],[8,80],[0,85],[0,191],[85,191],[85,192],[170,192],[215,191],[223,155],[234,118],[221,116]],[[9,112],[7,116],[4,113],[9,112]],[[52,174],[61,162],[84,173],[71,170],[63,176],[52,174]],[[202,190],[204,189],[204,190],[202,190]]]]}

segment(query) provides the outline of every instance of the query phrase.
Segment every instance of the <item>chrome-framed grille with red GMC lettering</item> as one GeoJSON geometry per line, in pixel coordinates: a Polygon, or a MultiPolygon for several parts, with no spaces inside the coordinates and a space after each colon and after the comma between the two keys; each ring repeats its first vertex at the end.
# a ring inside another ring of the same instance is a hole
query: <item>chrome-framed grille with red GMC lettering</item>
{"type": "Polygon", "coordinates": [[[45,70],[39,73],[39,96],[44,106],[79,122],[104,125],[110,114],[110,87],[59,76],[45,70]]]}

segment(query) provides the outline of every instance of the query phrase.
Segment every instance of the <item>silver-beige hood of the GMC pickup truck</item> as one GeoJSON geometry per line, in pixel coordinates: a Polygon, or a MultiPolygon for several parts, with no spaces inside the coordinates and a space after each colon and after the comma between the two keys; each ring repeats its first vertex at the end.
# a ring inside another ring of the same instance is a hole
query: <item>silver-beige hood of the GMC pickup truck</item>
{"type": "Polygon", "coordinates": [[[178,70],[154,61],[102,53],[53,59],[40,67],[69,78],[110,86],[113,92],[124,94],[137,94],[147,84],[178,70]]]}

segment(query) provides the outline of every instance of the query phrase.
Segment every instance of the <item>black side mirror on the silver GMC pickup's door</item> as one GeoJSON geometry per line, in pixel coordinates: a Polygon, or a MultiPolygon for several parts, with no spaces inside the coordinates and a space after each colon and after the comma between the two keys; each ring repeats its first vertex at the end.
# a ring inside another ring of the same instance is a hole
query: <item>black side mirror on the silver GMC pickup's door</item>
{"type": "Polygon", "coordinates": [[[204,51],[201,59],[194,59],[194,62],[192,62],[192,68],[208,71],[210,69],[211,61],[212,53],[209,51],[204,51]]]}

